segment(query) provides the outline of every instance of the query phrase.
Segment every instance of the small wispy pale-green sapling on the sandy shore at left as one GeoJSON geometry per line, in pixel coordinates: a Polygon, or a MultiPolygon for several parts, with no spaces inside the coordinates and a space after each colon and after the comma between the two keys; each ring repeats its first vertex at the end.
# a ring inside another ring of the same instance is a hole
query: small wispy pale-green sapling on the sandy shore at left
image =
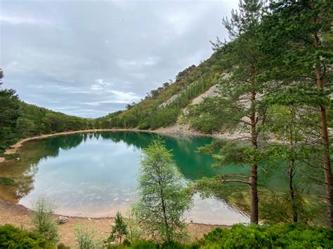
{"type": "Polygon", "coordinates": [[[39,196],[32,203],[32,224],[34,231],[42,234],[47,241],[56,243],[59,241],[58,224],[52,220],[54,205],[46,198],[39,196]]]}

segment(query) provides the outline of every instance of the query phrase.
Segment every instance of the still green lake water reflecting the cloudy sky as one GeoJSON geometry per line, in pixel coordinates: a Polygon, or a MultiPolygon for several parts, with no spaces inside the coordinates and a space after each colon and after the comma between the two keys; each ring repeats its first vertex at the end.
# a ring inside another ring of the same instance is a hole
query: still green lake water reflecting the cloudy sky
{"type": "MultiPolygon", "coordinates": [[[[136,174],[142,149],[156,137],[152,133],[100,132],[76,133],[32,140],[20,148],[20,161],[0,164],[1,176],[15,180],[12,187],[0,187],[0,198],[30,208],[32,201],[45,194],[63,215],[107,217],[123,213],[136,201],[136,174]]],[[[195,181],[218,173],[247,173],[247,167],[211,168],[213,159],[197,154],[197,147],[209,144],[209,137],[162,136],[167,149],[185,180],[195,181]]],[[[278,173],[277,173],[278,174],[278,173]]],[[[276,175],[276,174],[275,174],[276,175]]],[[[267,180],[278,188],[280,177],[267,180]]],[[[230,196],[247,187],[231,187],[226,198],[200,198],[186,214],[188,220],[208,224],[248,222],[246,212],[231,206],[230,196]]],[[[242,202],[242,200],[238,200],[242,202]]]]}

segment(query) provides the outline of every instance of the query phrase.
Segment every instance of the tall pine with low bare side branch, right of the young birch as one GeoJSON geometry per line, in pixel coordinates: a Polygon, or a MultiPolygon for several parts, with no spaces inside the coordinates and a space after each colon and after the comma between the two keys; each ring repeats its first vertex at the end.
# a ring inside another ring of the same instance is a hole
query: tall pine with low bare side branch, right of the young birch
{"type": "MultiPolygon", "coordinates": [[[[230,36],[230,42],[213,43],[217,50],[224,51],[224,65],[230,68],[231,76],[221,82],[221,93],[224,97],[223,109],[226,112],[226,121],[232,121],[231,126],[242,123],[249,136],[242,137],[251,143],[252,153],[244,153],[252,157],[260,154],[259,148],[259,122],[263,121],[265,108],[260,105],[263,83],[256,81],[256,76],[261,73],[262,60],[259,53],[259,25],[263,14],[262,1],[240,1],[239,12],[233,11],[230,20],[223,20],[223,24],[230,36]]],[[[222,108],[222,107],[221,107],[222,108]]],[[[248,151],[248,150],[246,150],[248,151]]],[[[246,156],[243,154],[243,156],[246,156]]],[[[237,179],[226,179],[222,182],[242,182],[249,185],[251,198],[251,222],[259,221],[258,198],[258,160],[249,159],[251,177],[249,182],[237,179]]],[[[230,175],[231,176],[231,175],[230,175]]],[[[230,176],[225,176],[229,178],[230,176]]],[[[247,178],[242,176],[241,178],[247,178]]]]}

